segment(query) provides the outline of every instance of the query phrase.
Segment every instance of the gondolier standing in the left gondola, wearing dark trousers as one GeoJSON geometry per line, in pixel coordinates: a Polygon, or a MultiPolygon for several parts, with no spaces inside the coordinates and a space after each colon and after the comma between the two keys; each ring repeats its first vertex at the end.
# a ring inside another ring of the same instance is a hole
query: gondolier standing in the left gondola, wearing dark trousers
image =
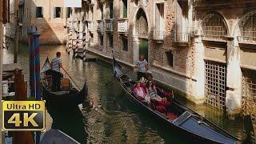
{"type": "Polygon", "coordinates": [[[61,88],[61,67],[62,67],[62,59],[61,59],[61,52],[56,53],[56,58],[54,58],[51,63],[51,69],[52,69],[52,78],[53,78],[53,87],[52,89],[54,91],[58,91],[61,88]]]}

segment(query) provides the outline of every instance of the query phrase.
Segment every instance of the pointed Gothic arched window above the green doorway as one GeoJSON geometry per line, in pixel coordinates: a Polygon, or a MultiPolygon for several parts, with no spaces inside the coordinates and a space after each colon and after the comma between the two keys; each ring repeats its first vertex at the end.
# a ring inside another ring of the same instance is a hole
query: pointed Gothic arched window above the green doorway
{"type": "Polygon", "coordinates": [[[138,10],[138,14],[136,16],[136,32],[138,36],[145,37],[148,35],[148,25],[146,20],[146,14],[144,10],[138,10]]]}

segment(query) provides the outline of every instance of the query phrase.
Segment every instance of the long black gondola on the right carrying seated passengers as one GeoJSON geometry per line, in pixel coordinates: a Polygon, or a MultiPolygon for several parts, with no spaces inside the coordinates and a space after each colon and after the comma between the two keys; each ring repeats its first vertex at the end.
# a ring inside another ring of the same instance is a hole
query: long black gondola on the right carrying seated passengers
{"type": "Polygon", "coordinates": [[[216,126],[214,123],[206,120],[199,114],[190,110],[181,102],[171,98],[171,109],[166,112],[160,112],[152,106],[148,106],[145,102],[139,100],[132,92],[132,87],[136,83],[134,73],[127,73],[127,69],[122,67],[113,57],[113,72],[118,84],[126,91],[126,96],[136,106],[146,110],[152,114],[154,118],[161,120],[166,126],[170,126],[171,130],[185,135],[191,141],[197,143],[240,143],[225,130],[216,126]]]}

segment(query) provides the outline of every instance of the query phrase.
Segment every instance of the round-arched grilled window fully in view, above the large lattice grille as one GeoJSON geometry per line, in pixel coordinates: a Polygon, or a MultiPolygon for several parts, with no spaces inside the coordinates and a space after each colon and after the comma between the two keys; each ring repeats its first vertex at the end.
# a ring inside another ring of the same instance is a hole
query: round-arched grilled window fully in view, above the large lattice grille
{"type": "Polygon", "coordinates": [[[220,14],[207,14],[202,21],[203,38],[221,39],[227,35],[224,19],[220,14]]]}

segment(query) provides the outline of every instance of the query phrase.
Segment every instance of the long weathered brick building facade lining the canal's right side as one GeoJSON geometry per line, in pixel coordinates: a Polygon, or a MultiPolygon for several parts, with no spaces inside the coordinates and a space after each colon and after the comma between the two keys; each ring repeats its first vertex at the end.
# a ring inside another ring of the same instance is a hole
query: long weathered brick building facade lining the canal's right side
{"type": "MultiPolygon", "coordinates": [[[[134,67],[195,103],[255,115],[254,1],[86,0],[68,20],[67,46],[134,67]],[[80,45],[79,45],[80,44],[80,45]]],[[[68,49],[69,50],[69,49],[68,49]]]]}

